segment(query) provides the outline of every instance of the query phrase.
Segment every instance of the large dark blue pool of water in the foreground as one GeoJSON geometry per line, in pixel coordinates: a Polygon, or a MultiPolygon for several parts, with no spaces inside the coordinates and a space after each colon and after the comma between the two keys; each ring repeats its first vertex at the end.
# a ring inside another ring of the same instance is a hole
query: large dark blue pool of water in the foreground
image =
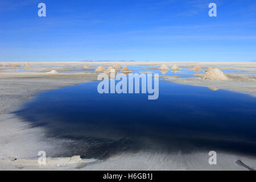
{"type": "Polygon", "coordinates": [[[70,142],[59,156],[226,151],[256,156],[256,99],[159,81],[148,94],[99,94],[98,81],[38,94],[14,113],[70,142]]]}

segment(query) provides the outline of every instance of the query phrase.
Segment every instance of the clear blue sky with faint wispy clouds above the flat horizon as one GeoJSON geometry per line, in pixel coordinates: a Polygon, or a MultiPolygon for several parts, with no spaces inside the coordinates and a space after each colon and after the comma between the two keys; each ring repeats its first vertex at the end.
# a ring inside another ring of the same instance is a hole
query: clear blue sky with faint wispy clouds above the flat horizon
{"type": "Polygon", "coordinates": [[[256,60],[256,1],[0,0],[0,61],[82,60],[256,60]]]}

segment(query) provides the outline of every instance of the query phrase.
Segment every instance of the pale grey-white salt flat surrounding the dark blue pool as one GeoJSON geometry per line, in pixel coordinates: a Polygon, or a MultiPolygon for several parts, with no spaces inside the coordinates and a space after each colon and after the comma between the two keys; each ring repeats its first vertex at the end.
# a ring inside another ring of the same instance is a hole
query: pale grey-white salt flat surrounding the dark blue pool
{"type": "MultiPolygon", "coordinates": [[[[28,170],[28,169],[78,169],[76,165],[73,166],[26,166],[23,164],[15,164],[10,162],[9,157],[14,158],[32,158],[35,157],[34,153],[40,150],[40,146],[49,145],[50,150],[54,150],[56,146],[61,144],[61,141],[55,140],[42,140],[38,134],[43,135],[43,128],[31,129],[23,121],[19,121],[14,115],[8,114],[10,111],[16,109],[24,102],[29,101],[38,93],[45,92],[47,90],[53,90],[62,88],[65,86],[77,85],[84,82],[92,81],[97,79],[98,73],[94,72],[94,67],[97,65],[114,65],[114,64],[123,65],[146,65],[148,67],[160,67],[162,64],[166,64],[168,67],[172,67],[174,64],[181,67],[188,67],[188,65],[200,65],[201,68],[207,69],[208,67],[214,67],[219,69],[233,69],[236,72],[251,72],[256,73],[256,63],[255,62],[149,62],[149,61],[131,61],[131,62],[30,62],[29,65],[32,68],[24,69],[24,67],[13,67],[11,64],[17,65],[28,65],[27,63],[16,62],[1,62],[3,67],[0,67],[0,169],[11,169],[11,170],[28,170]],[[8,64],[8,66],[4,66],[8,64]],[[82,65],[88,64],[93,68],[83,69],[82,65]],[[47,65],[47,66],[46,66],[47,65]],[[81,71],[87,70],[88,72],[84,73],[58,73],[58,74],[47,74],[46,72],[56,70],[57,72],[61,71],[81,71]],[[34,148],[28,152],[28,148],[34,148]]],[[[148,69],[150,71],[150,69],[148,69]]],[[[256,96],[256,76],[255,75],[235,75],[235,74],[226,74],[229,80],[206,80],[201,78],[201,74],[196,74],[196,77],[170,77],[170,76],[161,76],[163,80],[176,82],[178,84],[188,84],[196,86],[207,86],[210,88],[217,89],[226,89],[232,90],[234,92],[242,92],[246,94],[251,94],[256,96]]],[[[104,162],[93,163],[86,167],[79,167],[79,169],[116,169],[115,164],[118,166],[124,166],[123,162],[129,158],[130,155],[123,156],[114,156],[113,158],[106,160],[104,162]],[[108,168],[110,167],[110,168],[108,168]]],[[[201,154],[195,154],[195,156],[180,156],[172,158],[170,160],[175,160],[174,166],[153,166],[153,163],[147,163],[141,168],[138,169],[211,169],[201,164],[197,164],[201,154]],[[189,158],[189,159],[188,159],[189,158]],[[186,164],[185,159],[188,159],[189,165],[186,164]],[[195,159],[195,160],[192,160],[195,159]],[[179,161],[180,160],[180,161],[179,161]],[[175,166],[176,165],[176,166],[175,166]],[[144,167],[144,168],[143,168],[144,167]],[[162,168],[161,168],[162,167],[162,168]]],[[[151,158],[150,154],[148,155],[137,155],[135,158],[142,160],[143,158],[151,158]]],[[[228,154],[221,155],[223,161],[242,159],[247,164],[255,164],[255,159],[247,159],[246,156],[230,156],[228,154]]],[[[161,158],[159,156],[159,158],[161,158]]],[[[167,158],[167,156],[166,156],[167,158]]],[[[145,159],[146,160],[146,159],[145,159]]],[[[158,160],[158,159],[154,159],[158,160]]],[[[162,159],[159,159],[159,161],[162,159]]],[[[169,159],[168,159],[169,160],[169,159]]],[[[206,160],[206,159],[205,159],[206,160]]],[[[214,169],[245,169],[240,166],[232,166],[229,162],[222,163],[220,166],[214,169]],[[225,164],[228,164],[226,166],[225,164]]],[[[144,161],[144,159],[143,159],[144,161]]],[[[80,164],[81,166],[81,164],[80,164]]],[[[121,167],[118,169],[134,169],[132,166],[121,167]]]]}

